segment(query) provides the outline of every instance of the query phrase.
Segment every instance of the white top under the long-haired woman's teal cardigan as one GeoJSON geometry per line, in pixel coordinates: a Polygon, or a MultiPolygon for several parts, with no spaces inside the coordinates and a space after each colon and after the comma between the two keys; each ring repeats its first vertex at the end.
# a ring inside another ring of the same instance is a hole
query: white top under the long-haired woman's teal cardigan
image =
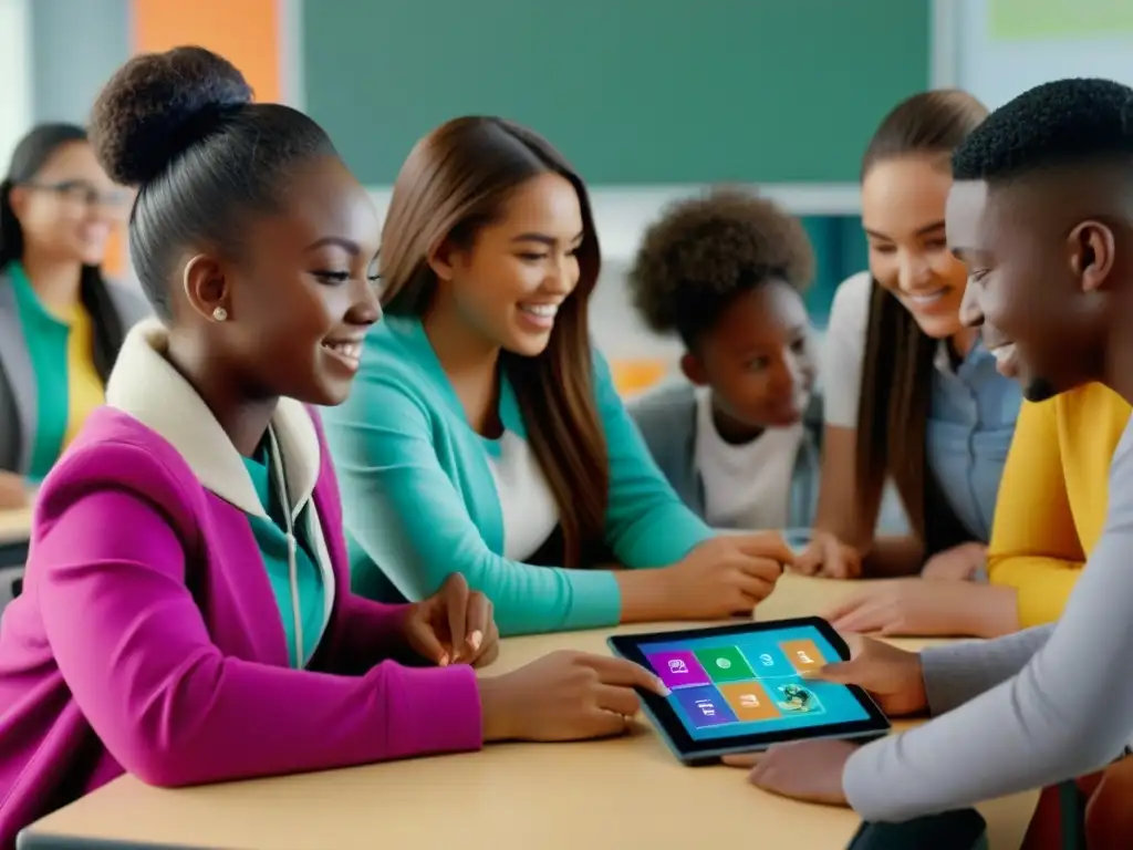
{"type": "Polygon", "coordinates": [[[531,447],[518,434],[504,431],[488,453],[503,516],[503,556],[526,561],[539,551],[559,525],[559,504],[531,447]]]}

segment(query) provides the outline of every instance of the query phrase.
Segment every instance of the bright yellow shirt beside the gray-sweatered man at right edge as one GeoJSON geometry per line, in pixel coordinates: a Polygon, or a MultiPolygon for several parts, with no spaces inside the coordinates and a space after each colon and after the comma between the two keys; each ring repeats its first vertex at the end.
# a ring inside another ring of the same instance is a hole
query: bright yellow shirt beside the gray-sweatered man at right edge
{"type": "Polygon", "coordinates": [[[1109,465],[1131,411],[1101,384],[1023,403],[988,546],[988,578],[1015,590],[1017,620],[988,631],[1006,634],[1062,614],[1101,536],[1109,465]]]}

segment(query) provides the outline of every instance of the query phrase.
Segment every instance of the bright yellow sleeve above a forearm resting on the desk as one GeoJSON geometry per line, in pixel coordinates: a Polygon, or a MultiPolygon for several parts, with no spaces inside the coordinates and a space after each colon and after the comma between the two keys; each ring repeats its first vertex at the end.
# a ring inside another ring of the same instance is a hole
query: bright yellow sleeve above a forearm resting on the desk
{"type": "Polygon", "coordinates": [[[989,580],[1015,588],[1022,628],[1058,619],[1085,563],[1066,490],[1056,401],[1023,402],[988,545],[989,580]]]}

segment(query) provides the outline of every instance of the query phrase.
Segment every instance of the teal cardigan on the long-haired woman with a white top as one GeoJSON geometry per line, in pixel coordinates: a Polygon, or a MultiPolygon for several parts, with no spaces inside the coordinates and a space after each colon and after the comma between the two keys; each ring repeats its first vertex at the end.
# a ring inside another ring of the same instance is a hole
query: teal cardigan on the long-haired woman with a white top
{"type": "MultiPolygon", "coordinates": [[[[712,536],[659,473],[595,355],[594,386],[610,456],[605,543],[621,566],[675,563],[712,536]]],[[[510,385],[505,428],[526,439],[510,385]]],[[[416,318],[385,317],[366,338],[350,399],[325,413],[355,573],[381,570],[408,600],[451,572],[493,602],[504,635],[612,626],[621,595],[608,570],[505,559],[503,516],[488,467],[491,441],[469,425],[416,318]],[[360,558],[359,558],[360,556],[360,558]]],[[[357,581],[365,589],[364,581],[357,581]]]]}

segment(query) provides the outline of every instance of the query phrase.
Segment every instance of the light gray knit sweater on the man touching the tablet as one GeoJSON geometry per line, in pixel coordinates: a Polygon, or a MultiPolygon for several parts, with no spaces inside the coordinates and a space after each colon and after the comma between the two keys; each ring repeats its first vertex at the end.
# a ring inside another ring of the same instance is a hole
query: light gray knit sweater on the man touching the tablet
{"type": "Polygon", "coordinates": [[[1109,510],[1062,619],[922,653],[934,720],[858,750],[843,787],[867,821],[905,821],[1091,773],[1133,737],[1133,423],[1109,510]]]}

